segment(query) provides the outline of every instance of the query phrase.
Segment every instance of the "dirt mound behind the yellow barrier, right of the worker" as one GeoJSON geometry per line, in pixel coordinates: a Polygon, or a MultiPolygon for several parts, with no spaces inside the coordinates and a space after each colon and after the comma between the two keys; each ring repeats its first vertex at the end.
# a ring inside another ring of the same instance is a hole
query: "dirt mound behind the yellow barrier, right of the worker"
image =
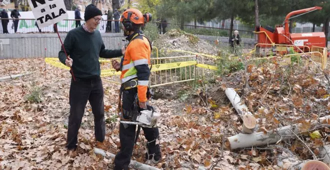
{"type": "Polygon", "coordinates": [[[153,46],[158,47],[158,50],[186,50],[213,55],[217,54],[218,51],[214,45],[211,45],[206,40],[199,39],[179,29],[172,29],[165,34],[161,34],[155,40],[153,46]]]}

